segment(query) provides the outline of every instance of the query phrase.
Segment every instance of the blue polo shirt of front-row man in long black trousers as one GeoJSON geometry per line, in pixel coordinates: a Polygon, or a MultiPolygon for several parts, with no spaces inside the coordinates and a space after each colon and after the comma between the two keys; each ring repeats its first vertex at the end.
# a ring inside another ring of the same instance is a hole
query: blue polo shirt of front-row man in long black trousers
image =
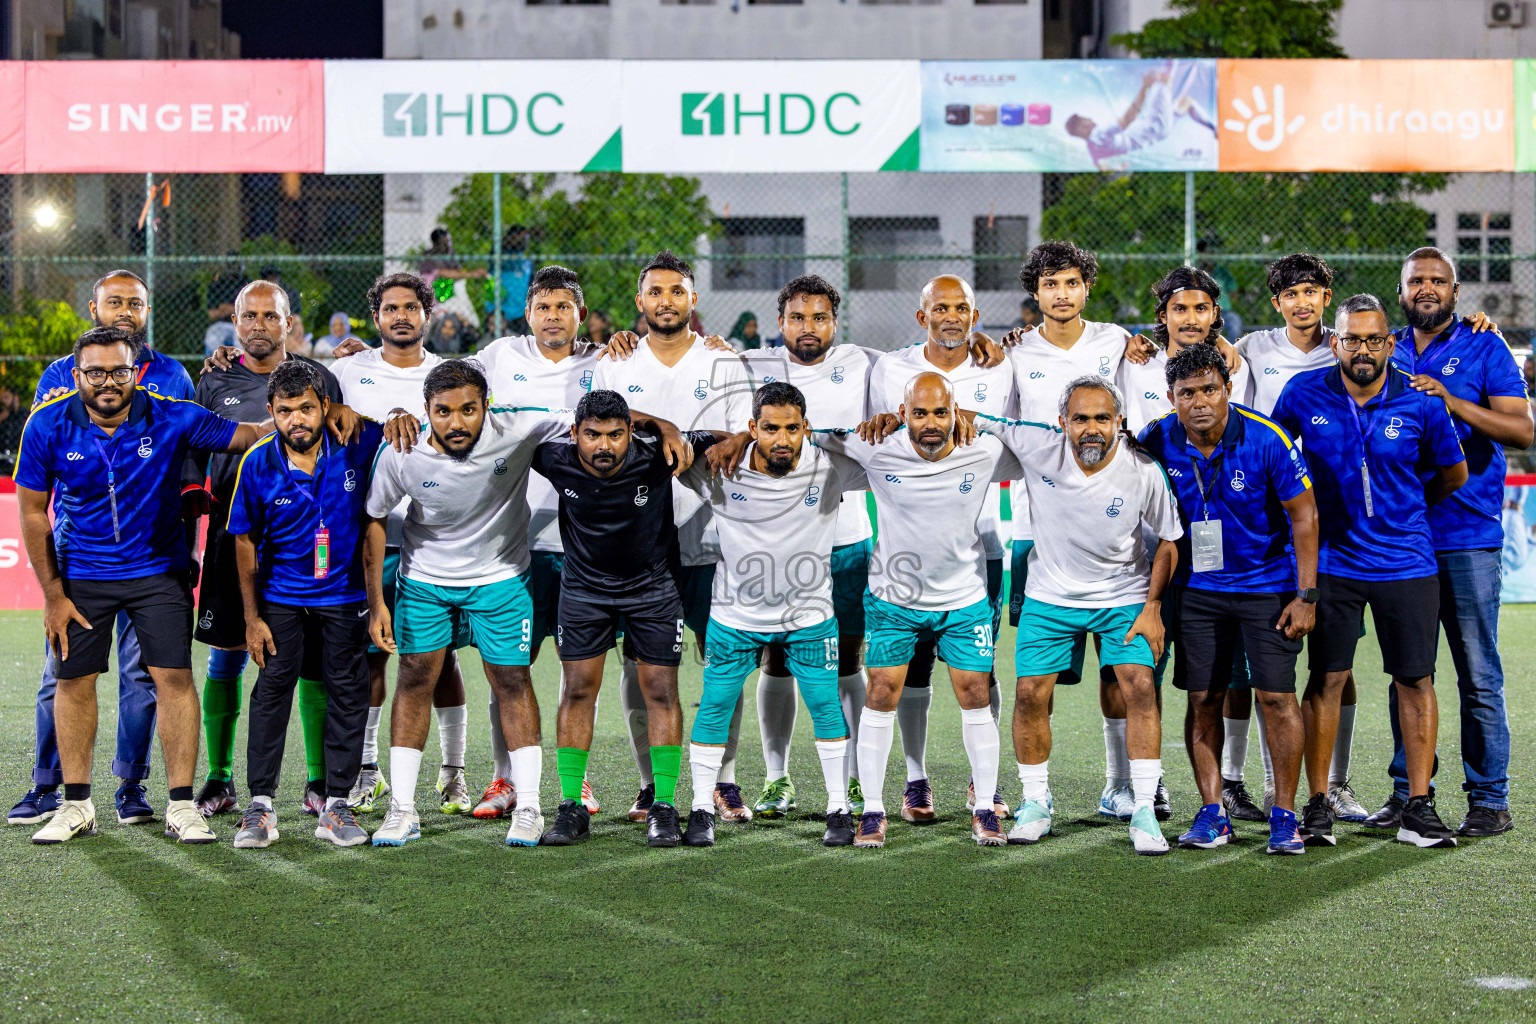
{"type": "Polygon", "coordinates": [[[362,586],[364,504],[384,427],[362,421],[349,445],[329,436],[313,476],[289,465],[283,442],[267,434],[250,447],[229,499],[229,533],[252,534],[261,597],[316,608],[367,600],[362,586]],[[330,531],[330,568],[315,579],[315,533],[330,531]]]}

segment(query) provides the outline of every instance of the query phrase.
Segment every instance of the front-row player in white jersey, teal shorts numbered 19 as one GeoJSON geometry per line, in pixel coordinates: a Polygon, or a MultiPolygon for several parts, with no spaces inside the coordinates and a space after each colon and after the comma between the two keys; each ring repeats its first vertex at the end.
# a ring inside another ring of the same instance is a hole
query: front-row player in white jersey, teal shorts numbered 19
{"type": "Polygon", "coordinates": [[[845,626],[834,613],[831,559],[842,519],[839,499],[863,487],[863,470],[852,459],[805,444],[805,438],[800,388],[785,381],[763,384],[753,396],[751,445],[742,464],[723,476],[696,464],[684,476],[714,508],[720,537],[703,695],[688,748],[693,812],[685,846],[714,846],[716,775],[742,683],[763,648],[780,651],[816,726],[826,783],[822,843],[854,841],[846,789],[849,728],[837,692],[839,633],[845,626]]]}

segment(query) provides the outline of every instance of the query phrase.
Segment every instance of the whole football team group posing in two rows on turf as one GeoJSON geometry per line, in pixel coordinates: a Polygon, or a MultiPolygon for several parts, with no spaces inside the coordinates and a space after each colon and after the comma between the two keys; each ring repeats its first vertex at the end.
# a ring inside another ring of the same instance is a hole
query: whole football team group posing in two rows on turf
{"type": "Polygon", "coordinates": [[[1127,821],[1138,854],[1170,847],[1164,679],[1187,697],[1200,792],[1180,847],[1226,844],[1233,820],[1267,824],[1270,854],[1333,844],[1336,820],[1421,847],[1507,831],[1504,448],[1530,447],[1533,419],[1504,339],[1481,315],[1456,315],[1453,261],[1407,256],[1395,330],[1372,295],[1335,306],[1322,259],[1284,256],[1267,273],[1283,325],[1235,344],[1209,273],[1178,267],[1155,286],[1147,338],[1084,319],[1097,272],[1071,243],[1038,246],[1020,279],[1043,321],[997,341],[977,330],[969,284],[934,278],[923,339],[891,352],[840,342],[837,289],[800,276],[779,293],[782,345],[737,353],[690,327],[694,273],[671,252],[639,273],[647,333],[601,348],[579,335],[578,275],[548,266],[528,287],[531,333],[464,359],[422,347],[433,290],[392,273],[369,295],[379,347],[350,341],[330,367],[284,350],[289,296],[253,281],[235,304],[238,347],[214,353],[195,387],[144,344],[144,282],[109,273],[91,302],[97,325],[38,384],[15,467],[48,659],[34,785],[9,821],[40,824],[45,844],[97,832],[97,679],[115,631],[117,818],[155,818],[144,780],[158,729],[166,835],[183,843],[217,841],[221,814],[238,815],[238,849],[278,840],[295,692],[301,806],[318,838],[422,837],[418,777],[436,718],[444,814],[507,818],[510,846],[579,843],[598,812],[587,766],[617,648],[639,775],[628,818],[651,846],[713,846],[717,823],[794,812],[802,700],[825,844],[880,847],[892,817],[935,823],[926,749],[940,662],[960,705],[971,837],[1034,844],[1058,814],[1055,689],[1083,680],[1089,639],[1106,755],[1097,812],[1127,821]],[[1017,625],[1015,811],[998,780],[1005,606],[1017,625]],[[1353,674],[1366,606],[1392,679],[1384,702],[1353,674]],[[1455,829],[1435,806],[1441,628],[1468,801],[1455,829]],[[703,692],[679,811],[690,629],[703,692]],[[209,646],[201,694],[194,637],[209,646]],[[547,640],[558,694],[530,676],[547,640]],[[478,800],[467,648],[490,689],[492,781],[478,800]],[[754,672],[766,778],[750,803],[737,742],[754,672]],[[1361,691],[1385,705],[1395,743],[1392,792],[1373,814],[1349,778],[1361,691]],[[541,695],[559,705],[550,821],[541,695]],[[1244,783],[1250,718],[1258,801],[1244,783]],[[886,797],[897,735],[899,801],[886,797]],[[194,794],[200,737],[207,771],[194,794]],[[382,814],[372,835],[359,824],[370,814],[382,814]]]}

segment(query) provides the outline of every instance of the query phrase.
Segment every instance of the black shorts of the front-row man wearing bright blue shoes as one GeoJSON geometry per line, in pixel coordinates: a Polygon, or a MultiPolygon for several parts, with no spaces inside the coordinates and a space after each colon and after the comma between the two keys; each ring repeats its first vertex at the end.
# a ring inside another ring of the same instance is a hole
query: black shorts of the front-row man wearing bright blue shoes
{"type": "Polygon", "coordinates": [[[1275,628],[1286,605],[1296,596],[1223,594],[1192,586],[1180,609],[1174,685],[1180,689],[1226,689],[1235,662],[1247,654],[1253,689],[1270,694],[1296,692],[1296,656],[1301,637],[1290,640],[1275,628]]]}

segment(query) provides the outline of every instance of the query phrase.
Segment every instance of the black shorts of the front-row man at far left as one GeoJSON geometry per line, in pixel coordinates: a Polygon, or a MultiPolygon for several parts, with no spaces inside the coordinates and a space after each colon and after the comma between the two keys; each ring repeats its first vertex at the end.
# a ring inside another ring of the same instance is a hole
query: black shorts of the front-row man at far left
{"type": "Polygon", "coordinates": [[[58,679],[106,671],[112,623],[120,611],[127,613],[138,634],[144,668],[192,668],[192,582],[186,573],[157,573],[131,580],[66,577],[63,583],[65,597],[75,603],[91,628],[71,620],[69,659],[54,665],[58,679]]]}

